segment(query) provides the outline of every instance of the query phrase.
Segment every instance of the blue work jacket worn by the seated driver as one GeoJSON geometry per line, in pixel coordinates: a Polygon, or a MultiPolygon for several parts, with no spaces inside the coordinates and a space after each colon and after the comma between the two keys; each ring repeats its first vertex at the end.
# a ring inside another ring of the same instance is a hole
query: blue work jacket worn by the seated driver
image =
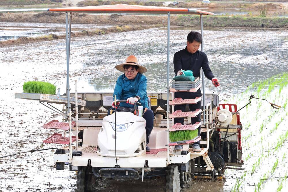
{"type": "MultiPolygon", "coordinates": [[[[147,79],[141,73],[138,73],[134,79],[128,79],[125,74],[120,75],[116,81],[114,88],[113,98],[116,95],[117,100],[127,100],[129,97],[139,96],[140,102],[144,108],[148,106],[147,96],[147,79]]],[[[128,103],[120,103],[120,107],[134,107],[134,105],[128,103]]]]}

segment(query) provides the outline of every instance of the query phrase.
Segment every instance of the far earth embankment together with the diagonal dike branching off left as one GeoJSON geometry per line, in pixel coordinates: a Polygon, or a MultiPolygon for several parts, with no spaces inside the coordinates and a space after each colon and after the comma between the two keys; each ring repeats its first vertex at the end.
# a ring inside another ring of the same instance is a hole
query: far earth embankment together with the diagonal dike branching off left
{"type": "MultiPolygon", "coordinates": [[[[3,13],[0,14],[2,22],[35,22],[35,23],[65,23],[65,14],[57,12],[42,12],[39,14],[3,13]]],[[[200,26],[199,16],[171,16],[171,26],[200,26]]],[[[73,13],[72,23],[79,24],[112,24],[117,25],[109,28],[97,28],[72,32],[72,37],[88,35],[101,35],[125,31],[142,30],[153,27],[166,27],[167,16],[143,16],[143,15],[88,15],[73,13]]],[[[253,27],[253,28],[288,28],[286,18],[261,18],[242,16],[204,16],[204,27],[253,27]]],[[[73,25],[72,25],[73,28],[73,25]]],[[[40,37],[20,37],[0,41],[0,47],[64,39],[63,35],[43,35],[40,37]]]]}

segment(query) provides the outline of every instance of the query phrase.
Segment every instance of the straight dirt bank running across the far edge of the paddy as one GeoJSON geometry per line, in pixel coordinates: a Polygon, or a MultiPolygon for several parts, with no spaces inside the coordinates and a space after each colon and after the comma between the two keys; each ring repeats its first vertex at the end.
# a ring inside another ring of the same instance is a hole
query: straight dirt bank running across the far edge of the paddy
{"type": "MultiPolygon", "coordinates": [[[[89,15],[73,14],[73,23],[113,25],[162,25],[166,26],[167,16],[146,15],[89,15]]],[[[244,16],[203,16],[204,27],[267,27],[288,28],[287,18],[244,17],[244,16]]],[[[39,14],[3,13],[2,22],[65,23],[64,13],[42,12],[39,14]]],[[[199,16],[172,15],[171,25],[199,26],[199,16]]],[[[73,27],[73,26],[72,26],[73,27]]],[[[152,26],[151,26],[152,27],[152,26]]]]}

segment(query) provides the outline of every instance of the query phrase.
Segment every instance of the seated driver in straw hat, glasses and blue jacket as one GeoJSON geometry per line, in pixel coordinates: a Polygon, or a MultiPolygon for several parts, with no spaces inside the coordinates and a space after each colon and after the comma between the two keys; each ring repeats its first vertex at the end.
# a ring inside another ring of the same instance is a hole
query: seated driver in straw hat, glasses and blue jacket
{"type": "MultiPolygon", "coordinates": [[[[116,95],[117,100],[127,100],[126,103],[122,102],[117,104],[120,107],[133,108],[134,102],[138,101],[143,106],[143,109],[148,108],[148,110],[143,114],[143,118],[146,120],[145,128],[148,144],[149,135],[153,129],[154,113],[148,106],[148,96],[146,92],[147,79],[143,75],[143,73],[147,72],[147,69],[138,64],[138,60],[134,55],[128,56],[124,64],[116,65],[115,68],[124,74],[120,75],[116,81],[113,97],[116,95]]],[[[114,103],[112,106],[112,109],[115,109],[114,103]]],[[[116,110],[118,111],[117,108],[116,110]]],[[[149,150],[149,147],[146,146],[146,151],[149,150]]]]}

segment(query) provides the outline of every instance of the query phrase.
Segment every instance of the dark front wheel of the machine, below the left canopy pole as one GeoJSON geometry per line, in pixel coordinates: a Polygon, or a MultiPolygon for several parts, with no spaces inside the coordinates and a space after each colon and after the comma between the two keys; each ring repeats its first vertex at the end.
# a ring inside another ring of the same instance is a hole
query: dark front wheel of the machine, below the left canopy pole
{"type": "Polygon", "coordinates": [[[91,167],[78,167],[76,192],[92,192],[98,185],[98,178],[92,173],[91,167]]]}

